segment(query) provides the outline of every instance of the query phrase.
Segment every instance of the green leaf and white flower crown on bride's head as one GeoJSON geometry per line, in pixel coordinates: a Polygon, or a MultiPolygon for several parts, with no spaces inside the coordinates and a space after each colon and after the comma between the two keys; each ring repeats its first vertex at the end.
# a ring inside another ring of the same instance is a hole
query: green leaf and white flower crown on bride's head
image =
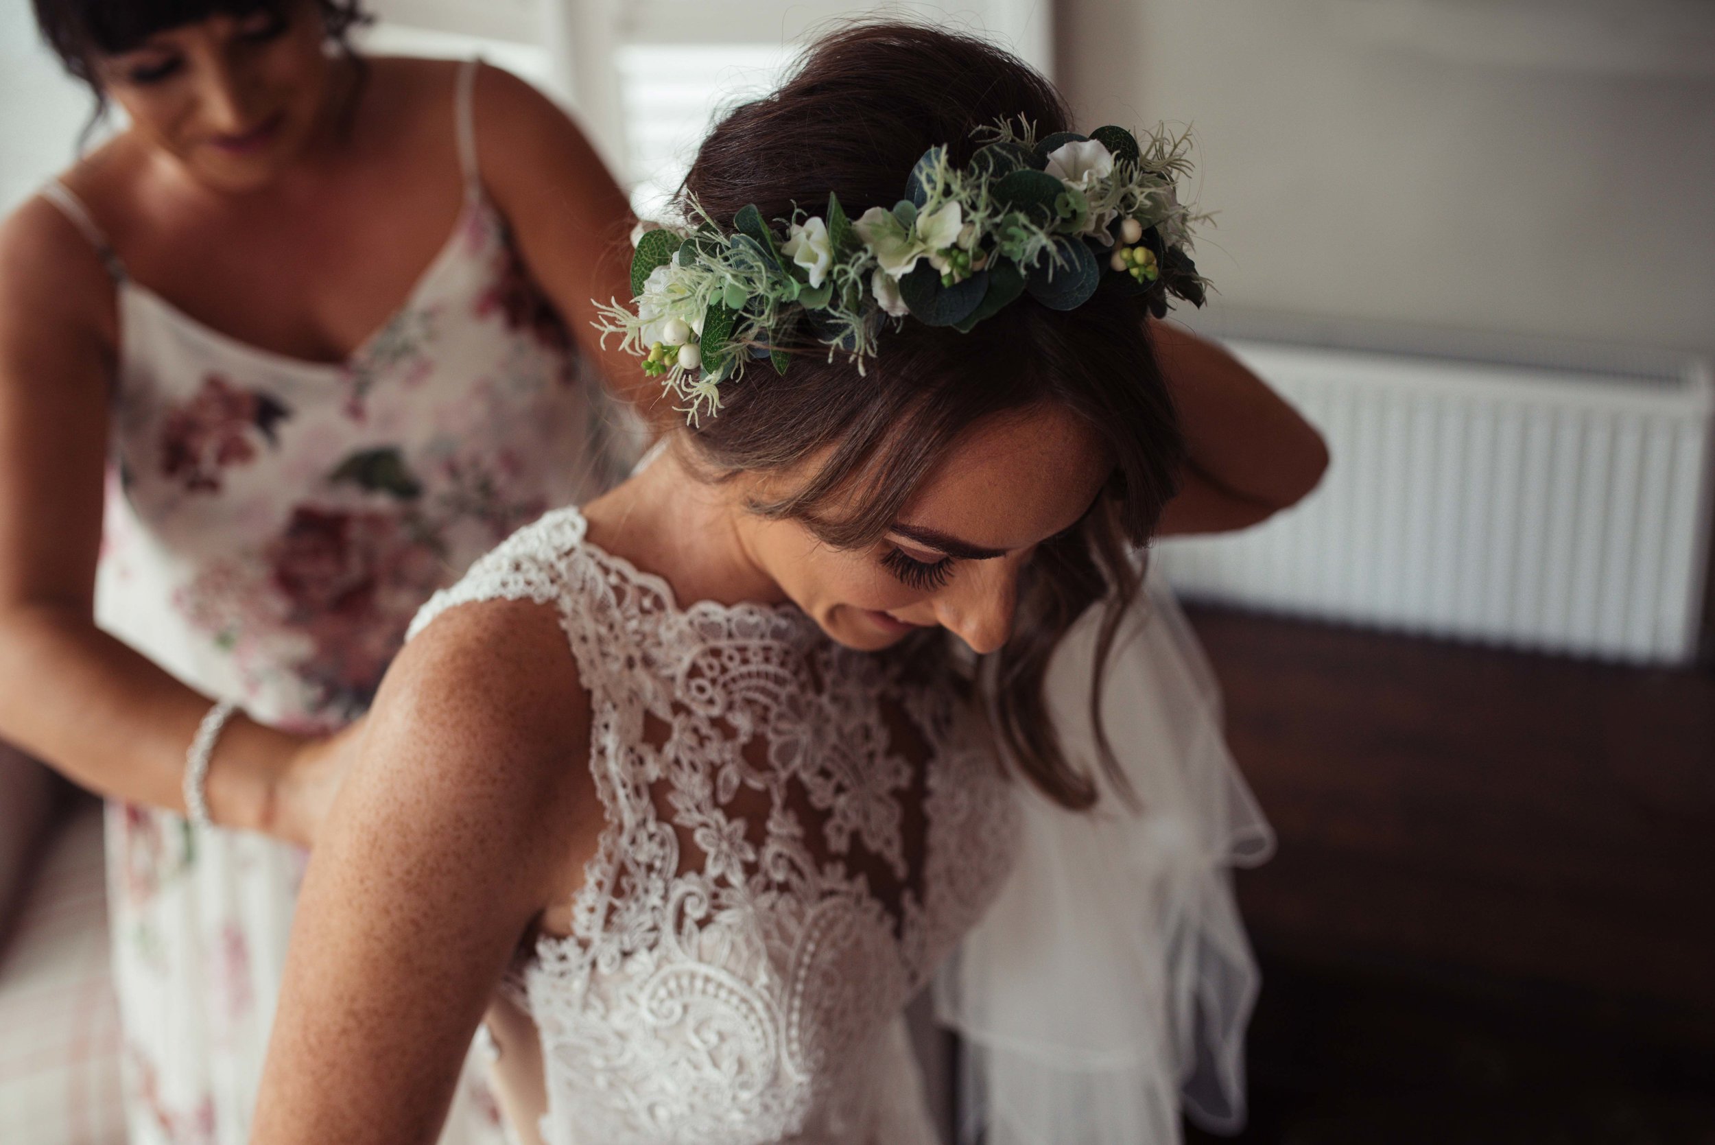
{"type": "Polygon", "coordinates": [[[1209,216],[1178,201],[1188,134],[1156,130],[1139,147],[1122,127],[1038,141],[1031,123],[978,129],[986,139],[955,168],[943,146],[911,170],[906,197],[856,221],[828,195],[823,214],[763,221],[755,204],[722,231],[696,201],[677,226],[640,223],[631,259],[635,310],[599,303],[595,326],[643,358],[695,425],[720,410],[720,386],[751,358],[785,374],[804,326],[863,370],[883,315],[969,331],[1029,293],[1072,310],[1103,273],[1156,317],[1168,295],[1202,305],[1206,281],[1185,254],[1209,216]]]}

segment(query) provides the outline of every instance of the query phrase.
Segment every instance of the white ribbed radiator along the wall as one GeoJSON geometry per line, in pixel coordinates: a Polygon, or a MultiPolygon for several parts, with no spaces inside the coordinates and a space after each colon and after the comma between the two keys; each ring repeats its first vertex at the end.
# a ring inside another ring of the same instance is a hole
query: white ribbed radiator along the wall
{"type": "Polygon", "coordinates": [[[1254,530],[1161,542],[1182,595],[1612,660],[1696,655],[1706,362],[1228,346],[1322,430],[1333,463],[1254,530]]]}

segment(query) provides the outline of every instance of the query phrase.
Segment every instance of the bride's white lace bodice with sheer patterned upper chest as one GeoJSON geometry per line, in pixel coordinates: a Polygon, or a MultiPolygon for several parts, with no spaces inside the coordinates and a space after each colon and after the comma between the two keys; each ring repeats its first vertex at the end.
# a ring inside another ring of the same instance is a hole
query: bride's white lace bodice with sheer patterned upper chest
{"type": "MultiPolygon", "coordinates": [[[[888,1027],[976,922],[1015,807],[981,715],[794,607],[679,608],[551,513],[418,614],[559,610],[607,828],[521,968],[549,1145],[878,1145],[888,1027]]],[[[894,1075],[897,1076],[897,1075],[894,1075]]]]}

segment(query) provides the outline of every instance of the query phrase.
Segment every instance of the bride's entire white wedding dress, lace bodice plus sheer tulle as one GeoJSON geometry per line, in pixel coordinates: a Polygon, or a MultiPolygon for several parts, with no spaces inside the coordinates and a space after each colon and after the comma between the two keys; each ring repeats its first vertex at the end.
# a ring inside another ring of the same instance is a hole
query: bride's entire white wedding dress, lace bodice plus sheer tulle
{"type": "MultiPolygon", "coordinates": [[[[840,648],[791,605],[679,607],[585,530],[547,514],[412,626],[549,605],[590,692],[605,835],[573,932],[504,991],[540,1039],[545,1145],[935,1145],[900,1013],[938,968],[962,1140],[1242,1123],[1257,979],[1228,869],[1271,833],[1158,574],[1099,698],[1139,806],[1110,788],[1072,812],[1003,776],[957,679],[840,648]]],[[[1091,775],[1098,622],[1048,675],[1091,775]]]]}

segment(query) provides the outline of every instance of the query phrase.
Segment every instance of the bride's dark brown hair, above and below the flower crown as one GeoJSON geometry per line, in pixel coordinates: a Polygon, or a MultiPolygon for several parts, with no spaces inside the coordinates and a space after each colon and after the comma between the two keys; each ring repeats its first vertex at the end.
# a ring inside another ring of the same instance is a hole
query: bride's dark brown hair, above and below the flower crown
{"type": "MultiPolygon", "coordinates": [[[[794,206],[820,213],[828,192],[856,218],[900,199],[931,146],[947,144],[960,165],[978,146],[974,129],[1019,117],[1039,137],[1072,127],[1053,86],[991,45],[912,24],[861,24],[816,41],[782,87],[722,118],[681,194],[727,230],[746,204],[763,218],[789,218],[794,206]]],[[[1048,660],[1072,622],[1106,596],[1094,711],[1120,617],[1140,590],[1130,550],[1154,531],[1185,456],[1144,322],[1139,300],[1111,286],[1068,312],[1024,297],[969,334],[907,319],[883,331],[863,375],[808,343],[784,377],[751,369],[722,386],[719,417],[689,430],[701,458],[725,475],[784,470],[828,451],[797,492],[753,509],[854,549],[887,533],[918,482],[974,423],[1050,403],[1094,429],[1115,459],[1113,477],[1072,533],[1038,549],[1014,632],[983,677],[1010,754],[1068,807],[1091,806],[1098,788],[1060,749],[1043,696],[1048,660]],[[840,495],[851,492],[858,495],[840,495]]],[[[1106,737],[1101,754],[1127,790],[1106,737]]]]}

